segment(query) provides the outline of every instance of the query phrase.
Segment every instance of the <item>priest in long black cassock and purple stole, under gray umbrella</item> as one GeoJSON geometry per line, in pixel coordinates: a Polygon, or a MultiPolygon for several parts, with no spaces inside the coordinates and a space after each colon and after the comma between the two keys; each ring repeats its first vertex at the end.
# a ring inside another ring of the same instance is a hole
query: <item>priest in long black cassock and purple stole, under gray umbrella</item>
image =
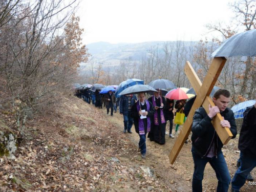
{"type": "Polygon", "coordinates": [[[160,90],[148,98],[155,108],[155,114],[152,118],[151,131],[148,133],[150,141],[155,141],[159,144],[165,143],[165,119],[163,114],[163,106],[165,104],[164,97],[160,96],[160,90]]]}

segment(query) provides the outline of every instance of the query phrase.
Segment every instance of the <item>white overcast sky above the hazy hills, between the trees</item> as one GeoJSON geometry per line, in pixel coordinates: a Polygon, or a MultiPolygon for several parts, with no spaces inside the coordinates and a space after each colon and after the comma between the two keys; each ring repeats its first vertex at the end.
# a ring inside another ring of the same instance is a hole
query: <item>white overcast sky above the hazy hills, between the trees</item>
{"type": "Polygon", "coordinates": [[[229,2],[233,0],[82,0],[77,14],[84,44],[200,40],[206,24],[231,20],[229,2]]]}

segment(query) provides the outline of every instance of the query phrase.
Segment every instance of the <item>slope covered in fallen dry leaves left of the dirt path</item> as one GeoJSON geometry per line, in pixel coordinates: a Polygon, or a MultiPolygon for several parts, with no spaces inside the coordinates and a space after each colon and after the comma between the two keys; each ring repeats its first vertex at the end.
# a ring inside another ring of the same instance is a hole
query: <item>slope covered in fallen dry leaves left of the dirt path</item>
{"type": "Polygon", "coordinates": [[[16,159],[0,159],[0,191],[171,191],[144,172],[140,159],[119,160],[137,157],[137,147],[77,98],[28,126],[32,137],[20,144],[16,159]]]}

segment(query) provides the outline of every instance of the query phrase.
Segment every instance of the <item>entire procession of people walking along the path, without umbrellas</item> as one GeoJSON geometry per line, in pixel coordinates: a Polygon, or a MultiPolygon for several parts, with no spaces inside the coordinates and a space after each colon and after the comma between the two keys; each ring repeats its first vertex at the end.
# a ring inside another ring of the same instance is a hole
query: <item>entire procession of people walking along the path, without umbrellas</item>
{"type": "MultiPolygon", "coordinates": [[[[178,133],[180,125],[176,124],[176,129],[173,131],[173,121],[176,113],[182,112],[185,114],[184,122],[196,99],[194,97],[187,102],[185,99],[175,102],[161,96],[160,90],[157,91],[147,99],[146,94],[141,92],[138,94],[138,99],[135,95],[122,95],[118,101],[112,91],[104,95],[99,94],[99,90],[96,90],[95,93],[89,92],[89,97],[95,94],[96,102],[93,102],[93,104],[98,108],[102,108],[103,102],[107,114],[111,109],[111,116],[113,116],[114,111],[117,111],[117,103],[119,104],[119,112],[123,115],[123,133],[132,134],[131,129],[134,124],[135,131],[140,138],[138,147],[142,158],[146,158],[146,135],[150,141],[165,144],[166,122],[169,121],[169,137],[174,138],[174,134],[178,133]]],[[[84,101],[90,103],[87,92],[82,93],[80,98],[85,98],[84,101]]],[[[93,100],[93,97],[91,97],[91,100],[93,100]]],[[[191,153],[194,160],[194,174],[192,188],[193,191],[202,191],[204,169],[209,162],[218,179],[217,191],[228,191],[230,182],[231,191],[239,191],[245,184],[246,179],[253,180],[250,172],[256,166],[256,103],[244,112],[239,138],[241,153],[237,164],[238,170],[231,180],[225,157],[222,153],[223,144],[211,123],[212,119],[220,113],[224,119],[220,122],[221,126],[228,127],[233,135],[232,138],[236,137],[236,121],[232,110],[227,107],[230,102],[230,92],[220,89],[215,92],[212,100],[215,106],[209,105],[209,113],[201,107],[196,110],[193,117],[191,153]]]]}

